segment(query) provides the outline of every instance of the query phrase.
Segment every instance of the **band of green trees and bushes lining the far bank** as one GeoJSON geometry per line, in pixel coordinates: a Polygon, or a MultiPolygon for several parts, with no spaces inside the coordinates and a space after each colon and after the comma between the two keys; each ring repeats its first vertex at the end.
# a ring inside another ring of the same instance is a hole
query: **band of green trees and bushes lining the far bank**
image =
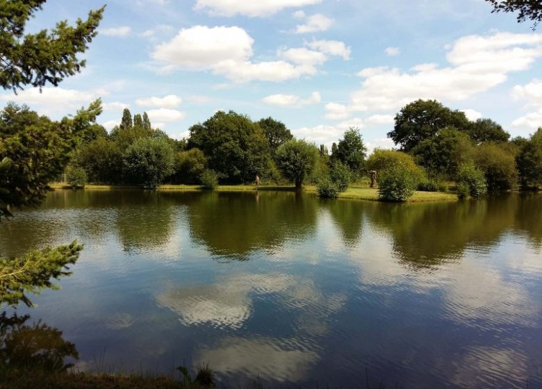
{"type": "MultiPolygon", "coordinates": [[[[11,110],[28,111],[10,106],[11,110]]],[[[69,184],[243,185],[259,176],[265,185],[316,185],[320,197],[340,197],[352,183],[367,182],[375,171],[379,199],[407,201],[416,191],[446,191],[446,182],[465,179],[460,172],[481,172],[478,190],[529,189],[542,185],[542,130],[529,139],[514,138],[491,119],[470,121],[459,110],[434,100],[418,100],[395,115],[388,137],[397,149],[367,148],[358,129],[317,147],[296,139],[284,123],[272,117],[254,122],[246,115],[219,111],[190,127],[186,139],[174,140],[152,127],[146,113],[124,110],[119,126],[108,133],[100,126],[76,144],[65,174],[69,184]],[[76,174],[75,174],[76,173],[76,174]]],[[[475,196],[471,196],[475,197],[475,196]]]]}

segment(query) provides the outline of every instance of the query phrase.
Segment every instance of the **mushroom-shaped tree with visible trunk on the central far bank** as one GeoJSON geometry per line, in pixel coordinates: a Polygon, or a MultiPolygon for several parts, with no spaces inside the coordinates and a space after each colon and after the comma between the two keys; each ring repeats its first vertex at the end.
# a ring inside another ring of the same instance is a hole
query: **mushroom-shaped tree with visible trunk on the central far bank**
{"type": "Polygon", "coordinates": [[[292,139],[277,149],[277,162],[284,176],[300,190],[306,176],[313,171],[318,160],[318,148],[305,140],[292,139]]]}

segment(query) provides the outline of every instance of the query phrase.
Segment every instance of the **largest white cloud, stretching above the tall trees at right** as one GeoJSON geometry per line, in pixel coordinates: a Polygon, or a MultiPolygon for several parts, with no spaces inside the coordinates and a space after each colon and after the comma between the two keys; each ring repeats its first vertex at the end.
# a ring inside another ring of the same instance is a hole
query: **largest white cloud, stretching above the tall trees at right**
{"type": "Polygon", "coordinates": [[[327,104],[327,117],[338,119],[368,110],[397,110],[415,99],[463,101],[528,69],[542,56],[542,34],[469,35],[447,47],[448,67],[421,64],[409,71],[363,69],[361,89],[349,104],[327,104]]]}

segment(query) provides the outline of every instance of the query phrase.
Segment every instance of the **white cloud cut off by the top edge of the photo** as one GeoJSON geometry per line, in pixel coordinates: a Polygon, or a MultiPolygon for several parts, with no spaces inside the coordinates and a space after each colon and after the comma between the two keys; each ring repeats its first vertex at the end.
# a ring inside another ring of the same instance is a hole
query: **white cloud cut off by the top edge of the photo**
{"type": "Polygon", "coordinates": [[[286,8],[311,6],[321,2],[322,0],[197,0],[194,8],[206,10],[212,16],[265,17],[286,8]]]}

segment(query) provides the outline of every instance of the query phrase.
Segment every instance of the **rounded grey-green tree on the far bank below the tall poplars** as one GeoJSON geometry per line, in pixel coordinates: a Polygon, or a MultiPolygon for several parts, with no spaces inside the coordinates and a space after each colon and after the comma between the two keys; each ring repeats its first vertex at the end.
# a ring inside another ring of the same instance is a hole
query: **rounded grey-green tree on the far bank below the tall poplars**
{"type": "Polygon", "coordinates": [[[173,149],[163,139],[140,138],[124,153],[127,179],[146,188],[156,188],[170,176],[173,163],[173,149]]]}

